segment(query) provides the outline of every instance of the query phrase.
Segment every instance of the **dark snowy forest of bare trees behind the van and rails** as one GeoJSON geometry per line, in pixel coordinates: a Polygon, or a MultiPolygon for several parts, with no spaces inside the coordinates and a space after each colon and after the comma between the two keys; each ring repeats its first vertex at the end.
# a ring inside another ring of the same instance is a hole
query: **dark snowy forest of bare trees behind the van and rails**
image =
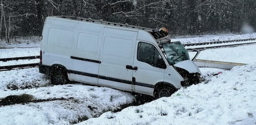
{"type": "Polygon", "coordinates": [[[40,36],[50,15],[70,15],[141,27],[167,27],[175,35],[237,33],[256,28],[255,0],[1,0],[1,39],[40,36]]]}

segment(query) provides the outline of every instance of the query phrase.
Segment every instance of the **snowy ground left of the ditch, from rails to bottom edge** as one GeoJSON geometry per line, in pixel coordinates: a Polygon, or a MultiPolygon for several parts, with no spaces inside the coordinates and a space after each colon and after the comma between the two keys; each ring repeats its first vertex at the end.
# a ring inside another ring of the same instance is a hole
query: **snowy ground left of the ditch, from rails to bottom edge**
{"type": "Polygon", "coordinates": [[[135,101],[130,93],[106,87],[49,85],[38,68],[2,71],[0,79],[0,124],[73,124],[135,101]],[[31,98],[16,96],[24,93],[31,98]]]}

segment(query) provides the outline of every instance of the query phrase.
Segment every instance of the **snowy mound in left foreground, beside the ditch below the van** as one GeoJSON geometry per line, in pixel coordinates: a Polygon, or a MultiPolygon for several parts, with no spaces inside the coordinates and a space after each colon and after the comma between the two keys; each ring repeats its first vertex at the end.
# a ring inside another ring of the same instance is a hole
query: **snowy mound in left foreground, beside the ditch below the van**
{"type": "Polygon", "coordinates": [[[134,97],[129,93],[111,88],[91,87],[87,85],[55,85],[17,91],[2,91],[1,97],[26,93],[34,100],[46,100],[38,103],[26,103],[2,106],[0,121],[6,124],[70,124],[79,118],[92,118],[104,111],[113,111],[121,105],[132,103],[134,97]],[[63,100],[65,98],[65,100],[63,100]],[[37,119],[39,118],[39,119],[37,119]]]}

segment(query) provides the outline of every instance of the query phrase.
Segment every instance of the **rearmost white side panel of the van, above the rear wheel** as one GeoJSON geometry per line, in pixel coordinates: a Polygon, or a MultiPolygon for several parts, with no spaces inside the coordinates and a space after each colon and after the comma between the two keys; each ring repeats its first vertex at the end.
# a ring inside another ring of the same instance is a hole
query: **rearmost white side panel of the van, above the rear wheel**
{"type": "MultiPolygon", "coordinates": [[[[47,17],[41,43],[42,57],[44,58],[42,64],[46,66],[59,64],[66,69],[73,69],[73,60],[70,59],[70,56],[75,42],[70,41],[75,41],[76,31],[77,23],[47,17]]],[[[68,76],[69,79],[73,79],[72,75],[68,76]]]]}

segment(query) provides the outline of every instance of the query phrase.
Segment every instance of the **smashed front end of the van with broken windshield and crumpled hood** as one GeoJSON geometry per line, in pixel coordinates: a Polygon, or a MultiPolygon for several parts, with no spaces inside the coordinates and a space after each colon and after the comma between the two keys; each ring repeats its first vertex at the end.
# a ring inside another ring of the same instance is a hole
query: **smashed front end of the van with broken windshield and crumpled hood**
{"type": "Polygon", "coordinates": [[[181,42],[164,40],[159,42],[159,48],[163,52],[169,65],[173,66],[183,77],[184,82],[181,82],[183,87],[200,82],[201,71],[196,64],[189,59],[189,53],[181,42]]]}

